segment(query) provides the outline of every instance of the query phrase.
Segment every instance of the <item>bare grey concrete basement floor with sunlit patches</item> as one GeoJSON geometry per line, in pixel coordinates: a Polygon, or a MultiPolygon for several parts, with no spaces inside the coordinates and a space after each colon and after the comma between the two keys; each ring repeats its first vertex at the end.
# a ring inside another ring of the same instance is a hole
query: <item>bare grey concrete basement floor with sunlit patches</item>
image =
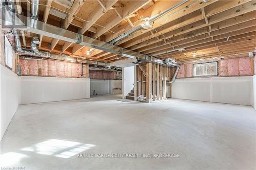
{"type": "Polygon", "coordinates": [[[1,143],[2,167],[256,169],[252,107],[177,99],[124,103],[120,97],[19,106],[1,143]],[[180,157],[79,158],[78,153],[180,157]]]}

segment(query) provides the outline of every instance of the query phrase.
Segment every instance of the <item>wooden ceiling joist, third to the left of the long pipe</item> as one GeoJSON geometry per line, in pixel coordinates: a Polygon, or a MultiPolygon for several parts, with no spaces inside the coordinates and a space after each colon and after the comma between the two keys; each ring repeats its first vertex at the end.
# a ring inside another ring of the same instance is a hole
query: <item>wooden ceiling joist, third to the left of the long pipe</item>
{"type": "Polygon", "coordinates": [[[70,14],[67,15],[63,22],[63,28],[68,29],[70,23],[74,19],[74,16],[79,12],[81,7],[83,6],[84,1],[76,0],[70,8],[70,14]]]}

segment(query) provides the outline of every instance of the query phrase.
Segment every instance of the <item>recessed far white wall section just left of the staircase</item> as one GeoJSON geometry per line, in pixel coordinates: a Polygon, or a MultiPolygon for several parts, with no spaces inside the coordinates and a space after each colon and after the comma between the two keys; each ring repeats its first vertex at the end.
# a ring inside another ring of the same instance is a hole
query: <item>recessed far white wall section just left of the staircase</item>
{"type": "MultiPolygon", "coordinates": [[[[95,90],[95,95],[97,94],[113,94],[113,88],[122,89],[122,80],[96,80],[91,79],[91,92],[93,95],[93,90],[95,90]]],[[[114,90],[115,94],[121,94],[122,90],[114,90]]]]}

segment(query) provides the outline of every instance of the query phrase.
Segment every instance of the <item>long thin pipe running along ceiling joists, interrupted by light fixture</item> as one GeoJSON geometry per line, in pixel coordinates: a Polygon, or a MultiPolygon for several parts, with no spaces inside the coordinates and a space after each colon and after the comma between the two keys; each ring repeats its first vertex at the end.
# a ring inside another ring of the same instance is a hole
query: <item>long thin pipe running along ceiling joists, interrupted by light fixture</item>
{"type": "MultiPolygon", "coordinates": [[[[148,22],[153,22],[154,20],[156,20],[156,19],[158,19],[159,17],[165,15],[166,13],[168,13],[168,12],[170,12],[170,11],[172,11],[172,10],[178,8],[179,6],[181,6],[182,4],[184,4],[184,3],[186,3],[186,2],[188,2],[188,0],[183,0],[181,3],[175,5],[174,7],[169,8],[169,9],[165,10],[164,12],[162,12],[162,13],[160,13],[160,14],[158,14],[158,15],[152,17],[152,18],[150,18],[150,19],[148,20],[148,22]]],[[[128,32],[126,32],[126,33],[120,35],[119,37],[113,39],[113,40],[110,41],[109,43],[115,45],[118,41],[120,41],[120,40],[123,39],[124,37],[127,37],[127,36],[129,36],[130,34],[136,32],[136,31],[138,31],[138,30],[141,30],[141,29],[142,29],[142,26],[141,26],[141,25],[139,25],[139,26],[137,26],[137,27],[134,27],[134,28],[131,29],[130,31],[128,31],[128,32]]]]}

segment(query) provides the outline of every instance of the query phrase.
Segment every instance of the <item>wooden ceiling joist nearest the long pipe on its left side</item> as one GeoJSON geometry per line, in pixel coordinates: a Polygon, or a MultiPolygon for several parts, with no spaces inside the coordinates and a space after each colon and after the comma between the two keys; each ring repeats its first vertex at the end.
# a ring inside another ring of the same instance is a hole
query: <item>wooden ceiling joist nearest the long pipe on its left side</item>
{"type": "Polygon", "coordinates": [[[110,29],[118,25],[118,23],[120,23],[123,19],[126,19],[127,17],[129,17],[130,14],[133,14],[136,11],[138,11],[141,7],[146,5],[148,2],[150,2],[150,0],[133,1],[133,3],[127,4],[125,7],[122,8],[122,14],[120,14],[122,18],[120,18],[117,15],[116,17],[111,16],[108,19],[106,19],[105,21],[106,25],[104,25],[104,28],[103,27],[97,28],[96,35],[94,38],[98,38],[105,32],[109,31],[110,29]]]}

